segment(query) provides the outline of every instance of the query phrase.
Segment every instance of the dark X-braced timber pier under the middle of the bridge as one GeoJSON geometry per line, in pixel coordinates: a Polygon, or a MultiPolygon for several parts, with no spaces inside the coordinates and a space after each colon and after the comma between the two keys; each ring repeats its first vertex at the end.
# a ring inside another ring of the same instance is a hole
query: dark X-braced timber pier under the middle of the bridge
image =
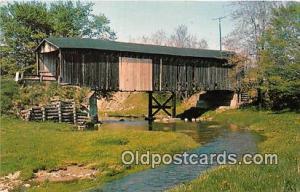
{"type": "Polygon", "coordinates": [[[160,103],[154,96],[153,91],[148,92],[148,121],[152,122],[154,120],[154,116],[159,111],[164,111],[168,116],[172,118],[176,117],[176,93],[172,92],[171,96],[167,98],[166,101],[160,103]],[[153,109],[155,111],[153,112],[153,109]],[[171,109],[171,112],[168,111],[171,109]]]}

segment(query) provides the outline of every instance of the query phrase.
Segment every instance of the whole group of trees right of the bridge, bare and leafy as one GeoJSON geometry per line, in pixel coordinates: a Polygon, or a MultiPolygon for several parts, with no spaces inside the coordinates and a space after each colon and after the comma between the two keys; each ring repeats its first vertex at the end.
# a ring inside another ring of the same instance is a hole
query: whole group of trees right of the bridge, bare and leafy
{"type": "Polygon", "coordinates": [[[242,50],[242,55],[248,55],[248,60],[237,66],[236,72],[242,77],[238,87],[265,108],[299,109],[300,4],[237,2],[235,5],[241,9],[232,14],[237,21],[237,34],[231,34],[230,38],[237,39],[230,42],[242,50]]]}

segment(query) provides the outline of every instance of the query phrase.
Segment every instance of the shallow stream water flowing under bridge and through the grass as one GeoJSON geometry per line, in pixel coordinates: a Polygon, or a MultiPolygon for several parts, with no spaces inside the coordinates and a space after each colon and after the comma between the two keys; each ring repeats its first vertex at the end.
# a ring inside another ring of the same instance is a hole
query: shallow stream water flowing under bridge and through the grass
{"type": "MultiPolygon", "coordinates": [[[[145,121],[133,120],[118,122],[106,121],[103,129],[139,129],[147,130],[145,121]]],[[[234,125],[223,125],[215,122],[201,123],[153,123],[152,131],[176,131],[189,135],[201,144],[200,147],[189,151],[203,153],[254,153],[256,151],[257,136],[254,133],[238,128],[234,125]]],[[[121,179],[111,181],[101,187],[92,189],[97,192],[135,192],[135,191],[164,191],[180,183],[197,178],[200,174],[215,165],[165,165],[155,169],[147,169],[133,173],[121,179]]]]}

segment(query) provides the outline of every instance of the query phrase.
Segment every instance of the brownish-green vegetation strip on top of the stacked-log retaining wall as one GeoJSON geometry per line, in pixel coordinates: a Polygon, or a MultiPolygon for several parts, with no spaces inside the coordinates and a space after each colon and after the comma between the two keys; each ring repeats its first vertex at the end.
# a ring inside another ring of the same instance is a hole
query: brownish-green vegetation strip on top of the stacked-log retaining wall
{"type": "Polygon", "coordinates": [[[91,90],[85,87],[61,86],[57,83],[35,83],[21,86],[13,80],[1,80],[1,113],[16,114],[32,106],[46,105],[51,98],[73,99],[77,105],[85,102],[91,90]]]}

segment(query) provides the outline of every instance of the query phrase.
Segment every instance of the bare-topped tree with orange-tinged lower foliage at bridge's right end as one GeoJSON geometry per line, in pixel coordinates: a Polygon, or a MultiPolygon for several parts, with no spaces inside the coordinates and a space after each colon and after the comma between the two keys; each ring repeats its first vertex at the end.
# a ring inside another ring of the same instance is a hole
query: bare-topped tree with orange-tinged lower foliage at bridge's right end
{"type": "Polygon", "coordinates": [[[235,22],[235,27],[224,38],[224,45],[227,50],[235,51],[247,58],[239,63],[241,67],[236,71],[241,82],[237,89],[248,93],[257,92],[258,101],[261,101],[262,95],[257,87],[257,84],[261,84],[257,63],[260,60],[259,53],[265,46],[260,39],[270,26],[273,8],[279,4],[265,1],[240,1],[231,4],[234,8],[231,19],[235,22]],[[247,90],[243,89],[245,87],[247,90]]]}

